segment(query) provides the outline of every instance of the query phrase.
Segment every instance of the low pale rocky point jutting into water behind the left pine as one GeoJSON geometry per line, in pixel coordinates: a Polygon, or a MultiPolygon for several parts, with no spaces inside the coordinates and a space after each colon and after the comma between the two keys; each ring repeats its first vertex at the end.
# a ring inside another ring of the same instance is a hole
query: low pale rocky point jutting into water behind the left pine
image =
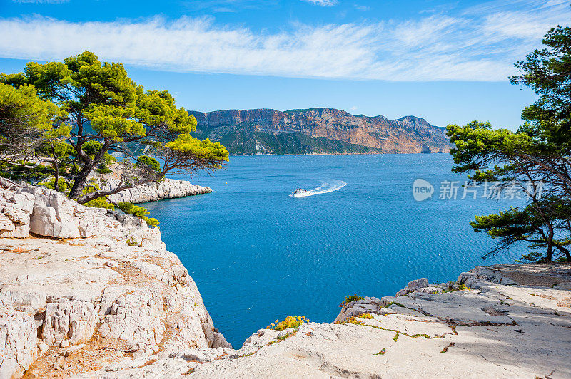
{"type": "Polygon", "coordinates": [[[137,204],[210,192],[212,192],[210,188],[193,185],[186,180],[165,179],[158,183],[152,182],[123,190],[117,194],[112,194],[109,196],[109,199],[115,203],[132,202],[133,204],[137,204]]]}

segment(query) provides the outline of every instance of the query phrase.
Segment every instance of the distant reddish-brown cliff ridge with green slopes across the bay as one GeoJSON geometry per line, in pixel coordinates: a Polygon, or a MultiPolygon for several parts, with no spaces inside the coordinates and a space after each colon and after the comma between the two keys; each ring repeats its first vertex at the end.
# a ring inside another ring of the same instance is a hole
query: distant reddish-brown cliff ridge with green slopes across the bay
{"type": "Polygon", "coordinates": [[[189,111],[196,135],[219,141],[231,154],[448,152],[445,130],[423,118],[388,120],[330,108],[189,111]]]}

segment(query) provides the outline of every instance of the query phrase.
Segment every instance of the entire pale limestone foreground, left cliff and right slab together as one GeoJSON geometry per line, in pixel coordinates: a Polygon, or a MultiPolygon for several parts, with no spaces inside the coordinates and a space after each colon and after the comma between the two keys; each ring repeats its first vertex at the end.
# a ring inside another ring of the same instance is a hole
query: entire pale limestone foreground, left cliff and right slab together
{"type": "Polygon", "coordinates": [[[158,229],[0,180],[0,378],[569,378],[570,264],[477,267],[233,349],[158,229]]]}

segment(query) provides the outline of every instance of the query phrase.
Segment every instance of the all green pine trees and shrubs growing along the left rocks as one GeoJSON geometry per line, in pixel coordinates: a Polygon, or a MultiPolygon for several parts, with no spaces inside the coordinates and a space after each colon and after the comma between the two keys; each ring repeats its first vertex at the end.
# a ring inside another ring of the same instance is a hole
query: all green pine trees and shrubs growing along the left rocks
{"type": "MultiPolygon", "coordinates": [[[[194,116],[166,90],[145,90],[121,63],[101,63],[89,51],[0,74],[0,175],[41,182],[80,204],[112,209],[108,195],[173,173],[222,167],[226,148],[192,137],[195,130],[194,116]],[[91,172],[113,172],[112,154],[124,157],[113,165],[118,185],[94,187],[91,172]]],[[[143,207],[119,208],[158,224],[143,207]]]]}

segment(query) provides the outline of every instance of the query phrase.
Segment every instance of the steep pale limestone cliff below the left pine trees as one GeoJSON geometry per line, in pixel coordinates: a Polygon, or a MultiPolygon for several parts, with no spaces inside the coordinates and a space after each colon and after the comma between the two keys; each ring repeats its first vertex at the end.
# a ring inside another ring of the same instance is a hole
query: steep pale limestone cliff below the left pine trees
{"type": "Polygon", "coordinates": [[[0,378],[230,347],[158,228],[6,180],[0,209],[0,378]]]}

